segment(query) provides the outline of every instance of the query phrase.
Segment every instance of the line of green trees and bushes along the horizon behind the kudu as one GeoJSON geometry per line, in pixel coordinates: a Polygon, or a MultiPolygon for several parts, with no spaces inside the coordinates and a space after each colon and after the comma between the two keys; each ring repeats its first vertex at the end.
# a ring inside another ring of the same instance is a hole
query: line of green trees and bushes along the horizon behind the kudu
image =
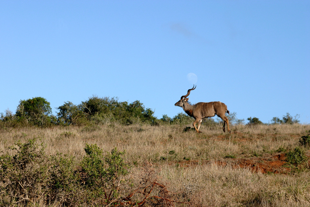
{"type": "MultiPolygon", "coordinates": [[[[56,108],[57,114],[52,114],[50,102],[43,97],[35,97],[27,100],[20,100],[15,114],[6,110],[0,114],[0,127],[17,126],[52,126],[52,125],[88,125],[108,124],[118,122],[120,124],[147,123],[159,124],[189,124],[193,119],[185,113],[178,113],[173,118],[162,115],[161,119],[154,116],[154,111],[145,108],[143,103],[136,100],[132,103],[118,101],[118,98],[92,96],[87,101],[75,105],[70,101],[64,102],[56,108]]],[[[231,124],[244,124],[244,119],[237,119],[237,113],[228,115],[231,124]]],[[[271,124],[294,124],[299,123],[299,115],[294,118],[289,114],[282,119],[273,117],[271,124]]],[[[250,117],[247,124],[263,124],[258,118],[250,117]]],[[[216,125],[220,119],[207,118],[202,124],[216,125]]]]}

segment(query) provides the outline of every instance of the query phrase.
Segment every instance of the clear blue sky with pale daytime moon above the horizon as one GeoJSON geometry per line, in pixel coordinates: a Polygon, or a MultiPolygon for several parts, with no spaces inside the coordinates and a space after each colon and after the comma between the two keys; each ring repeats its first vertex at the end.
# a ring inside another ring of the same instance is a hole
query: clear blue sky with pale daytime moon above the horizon
{"type": "Polygon", "coordinates": [[[1,1],[0,112],[44,97],[56,114],[95,95],[173,117],[195,83],[192,103],[309,124],[309,11],[309,1],[1,1]]]}

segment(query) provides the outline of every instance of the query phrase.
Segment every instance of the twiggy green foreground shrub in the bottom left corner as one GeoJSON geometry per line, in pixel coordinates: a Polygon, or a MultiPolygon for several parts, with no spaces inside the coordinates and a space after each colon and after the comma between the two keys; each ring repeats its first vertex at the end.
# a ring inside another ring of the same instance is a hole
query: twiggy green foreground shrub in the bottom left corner
{"type": "Polygon", "coordinates": [[[37,139],[15,143],[0,156],[1,205],[27,205],[46,191],[48,162],[37,139]]]}

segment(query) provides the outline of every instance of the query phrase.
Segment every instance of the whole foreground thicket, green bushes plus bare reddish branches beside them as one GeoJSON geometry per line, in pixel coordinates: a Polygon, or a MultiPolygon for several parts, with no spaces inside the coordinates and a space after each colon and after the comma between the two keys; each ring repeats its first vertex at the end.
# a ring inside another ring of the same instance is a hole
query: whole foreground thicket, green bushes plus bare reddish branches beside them
{"type": "Polygon", "coordinates": [[[134,175],[124,151],[104,153],[88,144],[84,150],[79,162],[60,153],[47,155],[38,138],[7,147],[0,153],[0,206],[191,205],[183,191],[173,193],[160,182],[149,162],[134,175]]]}

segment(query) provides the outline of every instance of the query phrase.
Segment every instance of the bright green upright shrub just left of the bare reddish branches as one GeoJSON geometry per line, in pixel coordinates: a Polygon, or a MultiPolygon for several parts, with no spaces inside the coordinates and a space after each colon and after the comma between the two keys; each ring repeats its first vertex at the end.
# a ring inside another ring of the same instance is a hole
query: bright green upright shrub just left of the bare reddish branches
{"type": "Polygon", "coordinates": [[[88,192],[86,200],[89,202],[108,205],[119,197],[119,191],[128,173],[128,165],[124,163],[124,152],[114,148],[110,155],[104,156],[102,149],[97,145],[85,147],[86,156],[81,162],[81,182],[88,192]]]}

